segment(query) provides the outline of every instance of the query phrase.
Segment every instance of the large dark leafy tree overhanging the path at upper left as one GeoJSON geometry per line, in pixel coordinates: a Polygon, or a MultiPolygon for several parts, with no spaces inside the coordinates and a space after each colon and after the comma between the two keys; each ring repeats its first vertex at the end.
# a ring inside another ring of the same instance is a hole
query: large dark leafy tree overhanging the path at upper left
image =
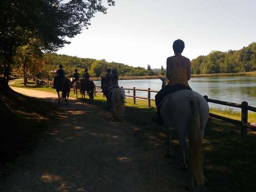
{"type": "MultiPolygon", "coordinates": [[[[114,0],[107,0],[114,6],[114,0]]],[[[3,85],[8,85],[14,53],[29,38],[42,42],[41,50],[56,51],[70,43],[83,27],[88,27],[96,12],[106,13],[101,0],[23,0],[1,1],[0,57],[4,61],[3,85]],[[24,36],[26,33],[26,36],[24,36]],[[26,37],[26,38],[24,38],[26,37]]]]}

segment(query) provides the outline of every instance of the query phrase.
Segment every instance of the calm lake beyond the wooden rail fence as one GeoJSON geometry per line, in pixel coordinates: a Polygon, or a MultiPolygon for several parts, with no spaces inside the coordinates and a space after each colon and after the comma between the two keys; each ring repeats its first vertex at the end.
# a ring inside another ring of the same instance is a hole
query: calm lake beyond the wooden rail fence
{"type": "MultiPolygon", "coordinates": [[[[100,81],[95,81],[95,85],[100,85],[100,81]]],[[[256,76],[232,76],[232,77],[192,77],[189,81],[190,87],[201,93],[208,95],[210,99],[241,103],[247,101],[250,106],[256,107],[256,76]]],[[[119,80],[119,86],[125,88],[151,88],[161,89],[161,80],[119,80]]],[[[127,92],[132,95],[132,91],[127,92]]],[[[136,91],[138,96],[147,96],[147,92],[136,91]]],[[[154,98],[154,93],[151,93],[154,98]]],[[[221,107],[218,104],[209,104],[211,107],[221,107]]]]}

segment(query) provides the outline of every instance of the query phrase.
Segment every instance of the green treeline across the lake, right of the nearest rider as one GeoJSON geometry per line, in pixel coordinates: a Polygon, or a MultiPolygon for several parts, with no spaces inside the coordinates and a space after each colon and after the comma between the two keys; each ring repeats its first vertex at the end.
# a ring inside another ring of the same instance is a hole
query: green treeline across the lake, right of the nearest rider
{"type": "Polygon", "coordinates": [[[191,61],[193,74],[238,73],[256,71],[256,43],[238,51],[213,51],[191,61]]]}

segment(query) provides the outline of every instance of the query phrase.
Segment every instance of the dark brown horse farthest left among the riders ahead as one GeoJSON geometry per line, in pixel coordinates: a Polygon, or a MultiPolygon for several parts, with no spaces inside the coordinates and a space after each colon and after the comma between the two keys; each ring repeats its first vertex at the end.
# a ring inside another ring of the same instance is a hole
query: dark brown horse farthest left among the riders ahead
{"type": "Polygon", "coordinates": [[[58,104],[60,104],[60,101],[66,102],[66,105],[68,104],[68,97],[70,96],[70,89],[71,89],[71,81],[68,78],[61,78],[60,80],[57,80],[56,82],[56,91],[58,93],[58,104]],[[62,92],[60,96],[60,91],[62,92]]]}

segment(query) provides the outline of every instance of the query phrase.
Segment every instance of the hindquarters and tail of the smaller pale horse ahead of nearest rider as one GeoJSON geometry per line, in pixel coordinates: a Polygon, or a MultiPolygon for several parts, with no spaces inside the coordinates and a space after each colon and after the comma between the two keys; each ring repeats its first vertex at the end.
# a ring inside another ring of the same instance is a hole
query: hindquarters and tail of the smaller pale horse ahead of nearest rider
{"type": "Polygon", "coordinates": [[[125,91],[123,88],[113,88],[111,90],[111,106],[115,120],[124,121],[125,115],[125,91]]]}

